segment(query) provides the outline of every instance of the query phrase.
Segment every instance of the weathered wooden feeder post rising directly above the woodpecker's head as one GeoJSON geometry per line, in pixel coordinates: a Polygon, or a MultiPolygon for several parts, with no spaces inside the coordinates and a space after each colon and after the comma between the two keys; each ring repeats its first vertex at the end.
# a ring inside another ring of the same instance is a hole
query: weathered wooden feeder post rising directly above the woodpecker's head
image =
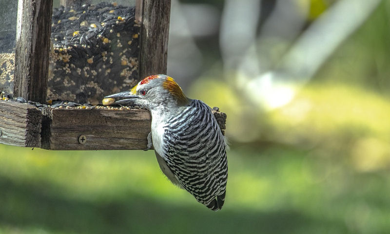
{"type": "Polygon", "coordinates": [[[171,0],[137,0],[136,6],[142,22],[139,77],[166,74],[171,0]]]}

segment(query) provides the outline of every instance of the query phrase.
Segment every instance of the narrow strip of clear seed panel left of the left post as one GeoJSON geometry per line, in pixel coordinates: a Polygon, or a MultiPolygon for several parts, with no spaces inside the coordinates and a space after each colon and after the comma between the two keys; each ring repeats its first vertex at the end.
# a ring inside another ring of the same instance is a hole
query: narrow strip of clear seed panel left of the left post
{"type": "Polygon", "coordinates": [[[0,98],[14,90],[17,15],[18,1],[0,1],[0,98]]]}

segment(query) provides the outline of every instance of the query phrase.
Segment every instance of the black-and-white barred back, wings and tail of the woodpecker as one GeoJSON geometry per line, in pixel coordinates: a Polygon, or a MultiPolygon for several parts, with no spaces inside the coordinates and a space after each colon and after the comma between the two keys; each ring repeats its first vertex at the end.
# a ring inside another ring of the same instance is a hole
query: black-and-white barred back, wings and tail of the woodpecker
{"type": "Polygon", "coordinates": [[[196,200],[217,211],[225,201],[225,139],[209,106],[193,100],[166,125],[164,160],[196,200]],[[169,126],[169,128],[168,128],[169,126]]]}

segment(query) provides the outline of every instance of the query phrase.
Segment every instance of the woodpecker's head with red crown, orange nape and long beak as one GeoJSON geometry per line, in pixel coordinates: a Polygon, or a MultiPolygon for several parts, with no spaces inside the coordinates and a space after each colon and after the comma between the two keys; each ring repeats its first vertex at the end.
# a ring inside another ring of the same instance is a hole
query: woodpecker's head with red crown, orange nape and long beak
{"type": "Polygon", "coordinates": [[[189,99],[184,95],[180,86],[167,75],[148,76],[130,91],[104,97],[104,99],[106,98],[118,99],[115,104],[133,104],[144,106],[150,110],[176,108],[189,103],[189,99]]]}

